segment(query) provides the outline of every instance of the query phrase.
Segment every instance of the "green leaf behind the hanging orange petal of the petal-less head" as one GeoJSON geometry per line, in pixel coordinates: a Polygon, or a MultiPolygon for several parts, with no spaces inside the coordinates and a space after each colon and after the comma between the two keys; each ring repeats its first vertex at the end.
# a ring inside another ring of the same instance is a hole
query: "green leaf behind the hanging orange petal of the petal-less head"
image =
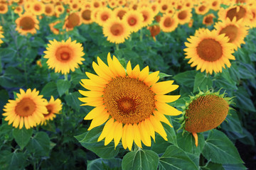
{"type": "Polygon", "coordinates": [[[199,156],[205,146],[205,140],[203,134],[198,133],[198,147],[196,147],[195,139],[190,132],[185,132],[182,135],[182,132],[177,134],[177,143],[178,147],[183,149],[185,152],[189,152],[199,156]]]}

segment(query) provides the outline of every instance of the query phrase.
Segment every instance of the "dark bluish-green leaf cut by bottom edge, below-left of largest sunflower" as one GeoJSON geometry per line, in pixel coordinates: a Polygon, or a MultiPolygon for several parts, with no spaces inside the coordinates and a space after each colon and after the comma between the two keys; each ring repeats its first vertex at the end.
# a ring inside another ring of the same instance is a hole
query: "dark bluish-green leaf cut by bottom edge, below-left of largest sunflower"
{"type": "Polygon", "coordinates": [[[119,169],[121,170],[122,159],[112,158],[112,159],[94,159],[88,161],[87,169],[88,170],[102,170],[102,169],[119,169]]]}

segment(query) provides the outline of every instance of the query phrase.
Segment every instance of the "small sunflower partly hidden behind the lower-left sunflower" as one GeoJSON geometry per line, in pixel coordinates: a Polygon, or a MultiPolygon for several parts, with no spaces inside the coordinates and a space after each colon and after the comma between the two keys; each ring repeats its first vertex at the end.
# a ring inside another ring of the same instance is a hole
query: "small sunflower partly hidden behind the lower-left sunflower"
{"type": "Polygon", "coordinates": [[[46,125],[48,120],[53,120],[53,118],[56,118],[55,114],[60,114],[62,109],[60,99],[57,98],[54,100],[53,96],[50,96],[50,101],[47,102],[46,108],[48,113],[43,114],[44,118],[41,121],[41,125],[46,125]]]}

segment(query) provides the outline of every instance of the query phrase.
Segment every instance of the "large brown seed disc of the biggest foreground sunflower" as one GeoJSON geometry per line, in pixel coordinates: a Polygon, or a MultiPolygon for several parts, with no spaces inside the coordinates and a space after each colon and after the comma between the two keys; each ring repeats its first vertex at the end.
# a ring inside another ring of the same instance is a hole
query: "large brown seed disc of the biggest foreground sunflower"
{"type": "Polygon", "coordinates": [[[139,79],[116,77],[107,84],[103,101],[110,115],[122,123],[139,123],[155,110],[154,92],[139,79]]]}

